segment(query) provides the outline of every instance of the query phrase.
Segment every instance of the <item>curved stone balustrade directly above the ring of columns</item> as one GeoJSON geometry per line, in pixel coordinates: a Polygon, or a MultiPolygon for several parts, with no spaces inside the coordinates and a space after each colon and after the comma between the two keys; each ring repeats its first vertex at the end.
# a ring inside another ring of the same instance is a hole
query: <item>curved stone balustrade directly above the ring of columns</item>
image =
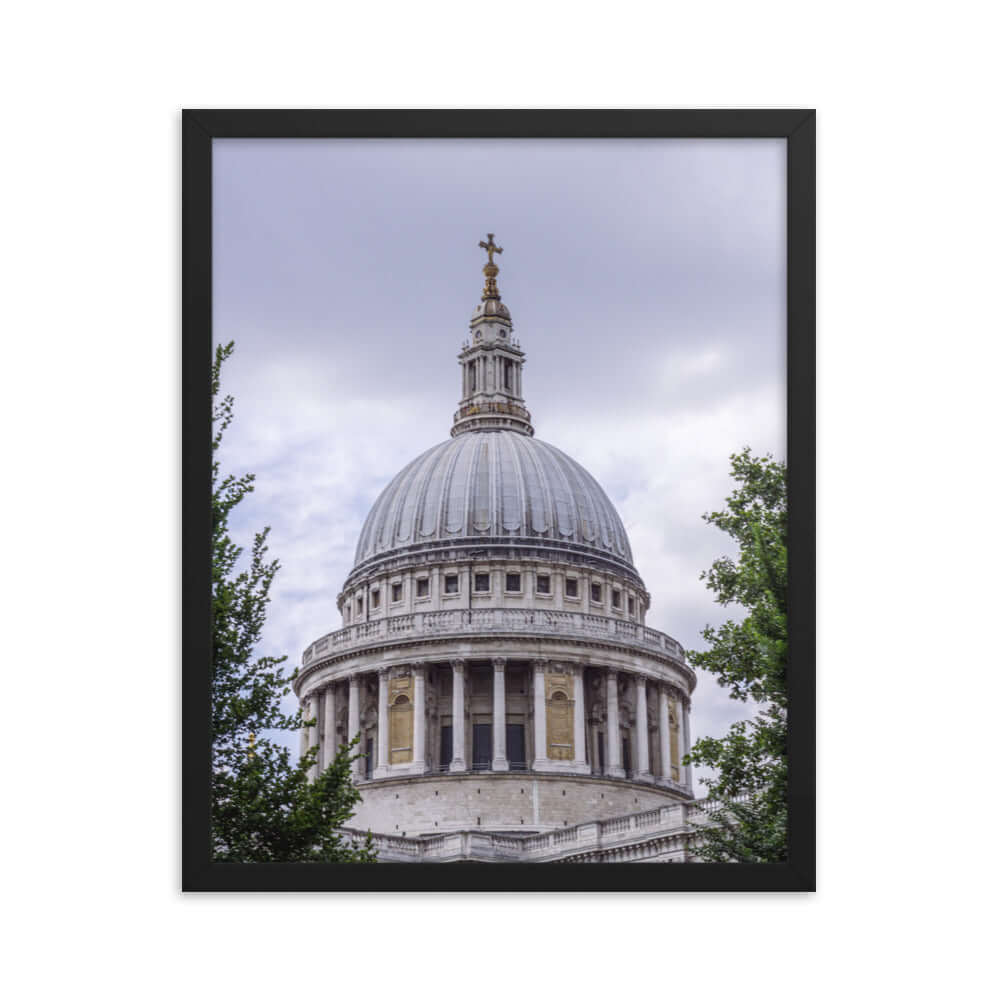
{"type": "Polygon", "coordinates": [[[327,656],[386,642],[490,633],[604,639],[639,650],[665,653],[681,662],[684,660],[684,650],[676,639],[636,622],[580,611],[472,608],[424,611],[348,625],[317,639],[302,654],[302,665],[307,667],[327,656]]]}

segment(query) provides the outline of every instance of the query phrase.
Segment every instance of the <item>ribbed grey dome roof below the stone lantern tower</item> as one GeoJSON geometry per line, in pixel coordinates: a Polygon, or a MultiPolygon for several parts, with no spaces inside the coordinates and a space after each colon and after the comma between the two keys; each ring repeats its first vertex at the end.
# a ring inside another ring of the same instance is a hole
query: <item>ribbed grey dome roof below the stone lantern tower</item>
{"type": "Polygon", "coordinates": [[[632,566],[621,518],[594,477],[558,448],[507,430],[460,434],[407,465],[375,501],[354,565],[467,539],[548,540],[632,566]]]}

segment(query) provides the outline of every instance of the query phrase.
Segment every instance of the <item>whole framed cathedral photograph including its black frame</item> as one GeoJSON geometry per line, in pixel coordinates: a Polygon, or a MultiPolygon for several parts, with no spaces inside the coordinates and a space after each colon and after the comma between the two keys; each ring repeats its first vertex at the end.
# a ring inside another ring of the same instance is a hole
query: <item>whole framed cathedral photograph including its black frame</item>
{"type": "Polygon", "coordinates": [[[183,113],[183,888],[815,888],[815,113],[183,113]]]}

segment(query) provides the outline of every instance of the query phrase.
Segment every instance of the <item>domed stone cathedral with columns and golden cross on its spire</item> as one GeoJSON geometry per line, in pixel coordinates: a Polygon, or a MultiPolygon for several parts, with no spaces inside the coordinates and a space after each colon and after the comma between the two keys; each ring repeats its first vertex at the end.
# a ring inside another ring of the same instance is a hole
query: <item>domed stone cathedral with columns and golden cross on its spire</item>
{"type": "Polygon", "coordinates": [[[650,595],[604,491],[534,436],[502,251],[482,246],[452,437],[375,502],[342,625],[310,644],[295,681],[318,722],[303,748],[325,766],[360,733],[354,822],[402,841],[562,836],[691,800],[694,674],[645,625],[650,595]]]}

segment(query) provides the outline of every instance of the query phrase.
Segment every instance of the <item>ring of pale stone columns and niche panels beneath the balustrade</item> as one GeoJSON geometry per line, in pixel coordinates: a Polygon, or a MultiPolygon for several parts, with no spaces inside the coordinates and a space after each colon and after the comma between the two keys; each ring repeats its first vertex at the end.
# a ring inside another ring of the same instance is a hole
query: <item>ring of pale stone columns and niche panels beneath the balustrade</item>
{"type": "MultiPolygon", "coordinates": [[[[449,662],[451,669],[451,720],[452,754],[450,761],[439,762],[441,769],[447,765],[451,773],[470,770],[466,760],[466,711],[467,679],[469,664],[461,658],[449,662]]],[[[490,770],[508,771],[510,761],[507,756],[507,684],[505,657],[493,657],[492,683],[492,758],[490,770]]],[[[531,725],[533,727],[534,753],[530,766],[533,771],[571,774],[603,774],[612,778],[631,777],[636,781],[657,784],[681,784],[691,787],[690,768],[682,764],[691,747],[690,704],[679,689],[648,678],[645,674],[622,671],[612,667],[601,667],[604,672],[604,732],[603,739],[597,726],[592,724],[590,759],[587,759],[587,698],[585,691],[586,667],[582,664],[562,663],[545,659],[532,661],[532,683],[530,702],[532,704],[531,725]],[[635,757],[629,761],[626,773],[622,758],[623,741],[620,727],[619,676],[624,675],[626,683],[634,685],[635,725],[631,733],[635,738],[635,757]],[[572,695],[570,697],[570,694],[572,695]],[[660,766],[653,773],[648,722],[649,702],[656,708],[656,729],[659,739],[658,759],[660,766]],[[675,705],[677,738],[671,739],[670,703],[675,705]],[[571,712],[571,720],[567,717],[571,712]],[[603,751],[603,767],[598,759],[603,751]],[[676,767],[680,781],[672,777],[676,767]]],[[[375,779],[403,774],[423,774],[428,770],[427,759],[427,665],[416,663],[395,672],[389,668],[378,671],[378,711],[376,725],[377,754],[371,776],[375,779]],[[408,678],[396,680],[394,678],[408,678]],[[398,690],[390,691],[391,685],[398,690]],[[407,709],[407,724],[394,728],[390,721],[395,702],[402,702],[407,709]],[[412,706],[412,724],[409,723],[412,706]],[[399,745],[394,746],[395,736],[399,745]],[[408,742],[407,742],[408,741],[408,742]],[[393,755],[400,758],[394,762],[393,755]]],[[[355,673],[348,677],[347,688],[347,732],[357,734],[361,729],[361,677],[355,673]]],[[[303,714],[307,720],[319,720],[322,714],[324,734],[336,734],[337,712],[342,706],[337,704],[338,695],[333,685],[310,692],[303,703],[303,714]]],[[[342,695],[340,695],[342,697],[342,695]]],[[[444,706],[439,706],[444,714],[444,706]]],[[[320,727],[311,725],[302,730],[301,749],[320,745],[320,727]]],[[[336,736],[325,735],[311,776],[315,778],[320,768],[326,768],[333,761],[340,743],[336,736]]],[[[362,747],[362,750],[364,748],[362,747]]],[[[356,780],[365,774],[364,761],[354,762],[356,780]]]]}

